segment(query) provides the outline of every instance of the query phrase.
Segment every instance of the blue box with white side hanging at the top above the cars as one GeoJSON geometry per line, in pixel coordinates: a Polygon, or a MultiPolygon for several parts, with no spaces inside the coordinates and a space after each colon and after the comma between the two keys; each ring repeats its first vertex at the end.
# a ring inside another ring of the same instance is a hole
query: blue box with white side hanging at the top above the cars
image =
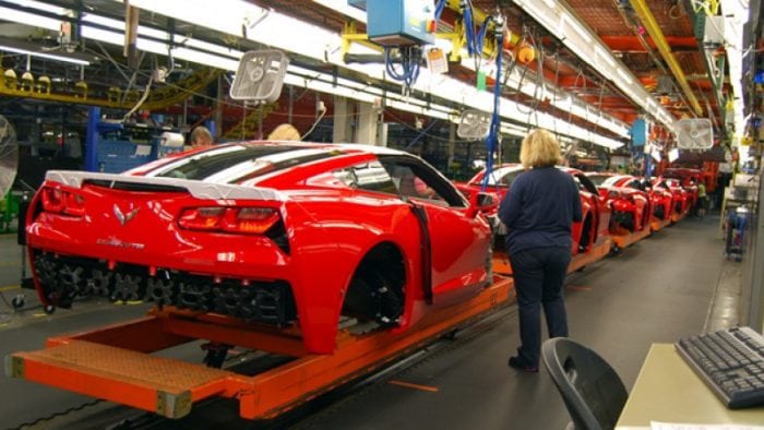
{"type": "Polygon", "coordinates": [[[383,46],[434,44],[432,0],[348,0],[367,12],[369,40],[383,46]]]}

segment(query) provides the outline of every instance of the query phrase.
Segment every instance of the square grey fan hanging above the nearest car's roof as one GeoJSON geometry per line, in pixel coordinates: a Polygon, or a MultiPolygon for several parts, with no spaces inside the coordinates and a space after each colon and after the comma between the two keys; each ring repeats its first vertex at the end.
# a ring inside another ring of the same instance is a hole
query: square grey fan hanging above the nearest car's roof
{"type": "Polygon", "coordinates": [[[230,97],[236,100],[272,103],[278,99],[289,59],[278,50],[244,52],[236,71],[230,97]]]}

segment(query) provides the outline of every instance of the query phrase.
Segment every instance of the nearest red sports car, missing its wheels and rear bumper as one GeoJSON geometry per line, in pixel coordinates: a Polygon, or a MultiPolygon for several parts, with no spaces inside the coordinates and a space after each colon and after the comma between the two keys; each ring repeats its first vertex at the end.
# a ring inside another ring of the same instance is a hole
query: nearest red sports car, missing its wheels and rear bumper
{"type": "Polygon", "coordinates": [[[100,295],[297,324],[319,354],[341,315],[403,331],[491,280],[477,203],[384,147],[247,142],[121,175],[49,171],[27,222],[47,306],[100,295]]]}

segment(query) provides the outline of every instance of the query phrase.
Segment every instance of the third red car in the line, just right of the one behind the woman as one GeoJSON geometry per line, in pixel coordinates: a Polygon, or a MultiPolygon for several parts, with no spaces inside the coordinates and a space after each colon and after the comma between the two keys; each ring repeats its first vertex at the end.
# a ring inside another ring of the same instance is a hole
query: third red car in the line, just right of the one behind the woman
{"type": "Polygon", "coordinates": [[[610,174],[587,172],[586,176],[599,189],[599,195],[605,198],[612,210],[610,230],[616,232],[622,228],[629,231],[642,231],[650,228],[650,199],[638,189],[617,186],[610,174]]]}

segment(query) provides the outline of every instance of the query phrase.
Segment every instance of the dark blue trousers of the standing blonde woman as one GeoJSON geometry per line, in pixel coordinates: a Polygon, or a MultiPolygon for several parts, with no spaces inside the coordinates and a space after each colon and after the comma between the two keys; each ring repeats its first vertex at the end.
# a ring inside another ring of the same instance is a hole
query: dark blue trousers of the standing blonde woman
{"type": "Polygon", "coordinates": [[[569,248],[534,248],[510,255],[517,291],[520,341],[517,356],[524,366],[538,367],[541,354],[541,307],[549,337],[568,337],[562,284],[571,262],[569,248]]]}

